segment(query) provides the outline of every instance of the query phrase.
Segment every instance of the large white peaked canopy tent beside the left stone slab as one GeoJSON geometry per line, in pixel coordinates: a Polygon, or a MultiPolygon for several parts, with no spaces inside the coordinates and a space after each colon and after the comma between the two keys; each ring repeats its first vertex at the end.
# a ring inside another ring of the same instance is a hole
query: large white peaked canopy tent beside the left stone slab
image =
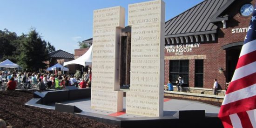
{"type": "Polygon", "coordinates": [[[64,62],[64,66],[72,65],[72,64],[79,64],[82,66],[92,65],[92,56],[93,56],[93,45],[88,49],[88,51],[80,56],[79,58],[73,60],[64,62]]]}

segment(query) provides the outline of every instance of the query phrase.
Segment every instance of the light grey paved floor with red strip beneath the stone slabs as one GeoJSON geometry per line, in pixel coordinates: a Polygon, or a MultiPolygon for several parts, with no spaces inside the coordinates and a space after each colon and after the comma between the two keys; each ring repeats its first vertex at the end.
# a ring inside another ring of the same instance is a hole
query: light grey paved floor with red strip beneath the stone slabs
{"type": "MultiPolygon", "coordinates": [[[[91,106],[90,99],[67,101],[67,102],[61,102],[61,103],[74,105],[80,108],[84,112],[96,113],[101,115],[109,115],[109,116],[122,117],[122,118],[144,117],[139,115],[126,114],[125,113],[126,97],[124,97],[123,101],[124,101],[123,102],[124,111],[118,112],[118,113],[92,109],[90,108],[91,106]]],[[[198,101],[164,99],[164,116],[174,116],[176,118],[179,118],[179,111],[182,111],[182,110],[205,110],[206,116],[216,117],[219,113],[220,108],[213,105],[206,104],[206,103],[198,102],[198,101]]]]}

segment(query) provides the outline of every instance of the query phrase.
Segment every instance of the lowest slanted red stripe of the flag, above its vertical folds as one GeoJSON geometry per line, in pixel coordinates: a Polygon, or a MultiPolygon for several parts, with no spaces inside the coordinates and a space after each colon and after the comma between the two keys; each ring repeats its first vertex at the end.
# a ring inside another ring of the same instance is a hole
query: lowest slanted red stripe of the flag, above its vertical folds
{"type": "Polygon", "coordinates": [[[256,95],[221,106],[219,117],[256,109],[256,95]]]}

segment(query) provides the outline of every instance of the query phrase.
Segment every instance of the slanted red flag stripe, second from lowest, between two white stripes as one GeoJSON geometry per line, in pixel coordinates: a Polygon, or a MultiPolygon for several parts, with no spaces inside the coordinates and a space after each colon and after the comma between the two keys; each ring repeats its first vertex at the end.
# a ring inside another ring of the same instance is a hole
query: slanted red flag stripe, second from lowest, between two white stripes
{"type": "Polygon", "coordinates": [[[230,82],[229,88],[228,88],[226,94],[235,92],[237,90],[240,90],[240,89],[243,89],[243,88],[246,88],[246,87],[249,87],[249,86],[255,84],[256,83],[255,78],[256,78],[256,73],[253,73],[253,74],[247,75],[241,79],[237,79],[236,81],[230,82]]]}

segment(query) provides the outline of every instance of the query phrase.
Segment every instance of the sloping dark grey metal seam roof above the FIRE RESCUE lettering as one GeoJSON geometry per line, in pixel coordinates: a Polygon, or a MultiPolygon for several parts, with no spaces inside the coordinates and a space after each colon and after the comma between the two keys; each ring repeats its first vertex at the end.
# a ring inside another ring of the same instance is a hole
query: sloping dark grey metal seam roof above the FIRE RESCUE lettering
{"type": "Polygon", "coordinates": [[[165,22],[165,37],[215,34],[217,26],[209,20],[229,0],[204,0],[165,22]]]}

